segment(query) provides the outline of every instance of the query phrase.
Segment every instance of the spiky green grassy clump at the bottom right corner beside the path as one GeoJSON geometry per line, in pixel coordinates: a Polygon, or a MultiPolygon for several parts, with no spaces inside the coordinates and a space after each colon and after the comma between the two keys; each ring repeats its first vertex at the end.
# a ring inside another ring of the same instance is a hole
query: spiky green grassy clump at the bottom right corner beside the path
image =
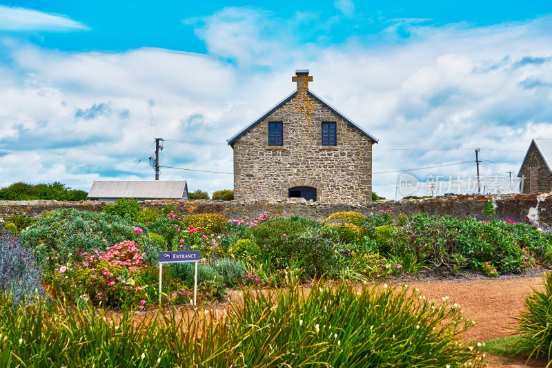
{"type": "Polygon", "coordinates": [[[524,311],[515,318],[517,331],[522,333],[517,349],[531,351],[530,358],[552,362],[552,273],[544,275],[543,283],[543,291],[533,290],[525,298],[524,311]]]}

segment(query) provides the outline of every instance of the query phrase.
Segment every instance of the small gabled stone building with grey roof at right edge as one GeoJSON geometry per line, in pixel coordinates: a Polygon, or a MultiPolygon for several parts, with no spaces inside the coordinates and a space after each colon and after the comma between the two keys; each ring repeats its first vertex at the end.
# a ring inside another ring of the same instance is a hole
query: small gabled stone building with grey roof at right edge
{"type": "Polygon", "coordinates": [[[552,191],[552,139],[533,139],[520,172],[520,193],[552,191]]]}

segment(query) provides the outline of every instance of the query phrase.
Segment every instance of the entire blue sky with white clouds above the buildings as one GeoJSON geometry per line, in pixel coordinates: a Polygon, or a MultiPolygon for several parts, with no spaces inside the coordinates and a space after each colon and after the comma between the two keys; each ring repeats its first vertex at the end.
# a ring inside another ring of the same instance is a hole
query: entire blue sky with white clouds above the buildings
{"type": "Polygon", "coordinates": [[[473,192],[475,148],[507,182],[552,138],[549,0],[152,4],[0,2],[0,187],[152,180],[159,137],[161,180],[232,188],[226,139],[295,89],[295,69],[380,139],[386,197],[402,173],[418,195],[457,175],[442,191],[473,192]]]}

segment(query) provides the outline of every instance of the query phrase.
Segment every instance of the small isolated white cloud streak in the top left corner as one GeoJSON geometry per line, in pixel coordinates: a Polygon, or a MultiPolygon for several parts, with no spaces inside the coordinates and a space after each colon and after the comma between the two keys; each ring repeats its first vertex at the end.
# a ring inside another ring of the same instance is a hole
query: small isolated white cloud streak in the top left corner
{"type": "Polygon", "coordinates": [[[0,5],[0,30],[89,30],[88,26],[60,14],[0,5]]]}

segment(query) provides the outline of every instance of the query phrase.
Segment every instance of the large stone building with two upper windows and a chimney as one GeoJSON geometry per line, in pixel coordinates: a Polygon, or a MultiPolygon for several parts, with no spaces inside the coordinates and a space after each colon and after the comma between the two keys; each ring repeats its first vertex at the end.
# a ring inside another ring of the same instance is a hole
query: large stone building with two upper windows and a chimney
{"type": "Polygon", "coordinates": [[[370,202],[377,139],[309,90],[308,70],[292,81],[297,90],[228,139],[235,199],[370,202]]]}

